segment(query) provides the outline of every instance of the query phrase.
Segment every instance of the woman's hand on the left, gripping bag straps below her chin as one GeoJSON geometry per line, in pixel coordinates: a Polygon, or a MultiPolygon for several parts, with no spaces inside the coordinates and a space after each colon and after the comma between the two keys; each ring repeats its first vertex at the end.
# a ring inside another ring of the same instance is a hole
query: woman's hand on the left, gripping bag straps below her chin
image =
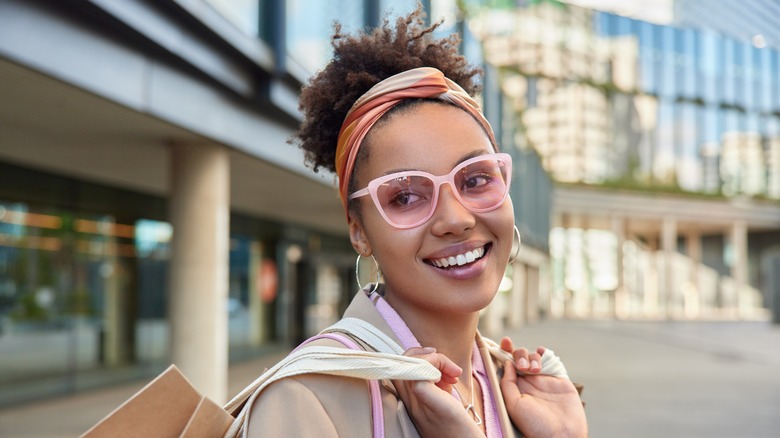
{"type": "Polygon", "coordinates": [[[452,396],[452,385],[458,382],[463,370],[434,348],[410,348],[404,356],[424,359],[441,371],[441,380],[436,383],[393,381],[420,436],[484,437],[463,405],[452,396]]]}

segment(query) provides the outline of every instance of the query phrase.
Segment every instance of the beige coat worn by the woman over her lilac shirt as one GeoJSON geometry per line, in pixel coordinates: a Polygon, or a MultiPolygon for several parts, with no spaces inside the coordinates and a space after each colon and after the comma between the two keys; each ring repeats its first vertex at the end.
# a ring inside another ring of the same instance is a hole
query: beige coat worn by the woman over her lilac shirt
{"type": "MultiPolygon", "coordinates": [[[[367,321],[400,344],[390,326],[365,294],[356,295],[344,316],[367,321]]],[[[370,350],[359,339],[355,341],[370,350]]],[[[320,339],[314,341],[312,345],[346,348],[330,339],[320,339]]],[[[495,391],[494,399],[503,435],[519,436],[506,413],[496,363],[479,334],[477,334],[477,345],[485,363],[490,386],[495,391]]],[[[403,403],[385,385],[392,388],[389,382],[383,382],[381,387],[385,436],[419,436],[403,403]]],[[[255,401],[249,416],[248,436],[252,438],[263,436],[370,437],[372,435],[370,398],[368,383],[361,379],[319,374],[282,379],[266,388],[255,401]]]]}

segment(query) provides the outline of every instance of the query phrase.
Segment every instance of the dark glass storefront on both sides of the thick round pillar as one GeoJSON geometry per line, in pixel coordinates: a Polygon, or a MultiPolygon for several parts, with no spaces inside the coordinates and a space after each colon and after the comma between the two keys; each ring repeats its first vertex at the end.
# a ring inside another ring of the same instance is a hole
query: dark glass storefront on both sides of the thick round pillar
{"type": "MultiPolygon", "coordinates": [[[[0,406],[167,366],[166,200],[2,162],[0,175],[0,406]]],[[[332,323],[356,290],[341,236],[238,213],[230,229],[231,360],[332,323]]]]}

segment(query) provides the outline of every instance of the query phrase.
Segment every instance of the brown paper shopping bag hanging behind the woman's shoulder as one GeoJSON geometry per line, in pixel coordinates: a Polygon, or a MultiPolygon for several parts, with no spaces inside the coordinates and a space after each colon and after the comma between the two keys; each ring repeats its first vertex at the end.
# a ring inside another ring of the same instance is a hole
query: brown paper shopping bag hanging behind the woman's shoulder
{"type": "Polygon", "coordinates": [[[232,422],[227,411],[171,365],[81,437],[214,438],[232,422]]]}

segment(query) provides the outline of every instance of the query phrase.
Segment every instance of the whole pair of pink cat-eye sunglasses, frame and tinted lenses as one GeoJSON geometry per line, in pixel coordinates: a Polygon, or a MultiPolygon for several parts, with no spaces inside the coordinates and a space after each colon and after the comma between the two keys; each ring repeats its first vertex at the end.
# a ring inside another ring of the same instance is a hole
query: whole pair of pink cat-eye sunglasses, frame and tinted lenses
{"type": "Polygon", "coordinates": [[[380,176],[368,187],[349,195],[349,199],[371,195],[387,223],[396,228],[413,228],[433,216],[442,184],[449,184],[469,211],[483,213],[504,203],[511,177],[509,154],[487,154],[460,163],[446,175],[411,170],[380,176]]]}

